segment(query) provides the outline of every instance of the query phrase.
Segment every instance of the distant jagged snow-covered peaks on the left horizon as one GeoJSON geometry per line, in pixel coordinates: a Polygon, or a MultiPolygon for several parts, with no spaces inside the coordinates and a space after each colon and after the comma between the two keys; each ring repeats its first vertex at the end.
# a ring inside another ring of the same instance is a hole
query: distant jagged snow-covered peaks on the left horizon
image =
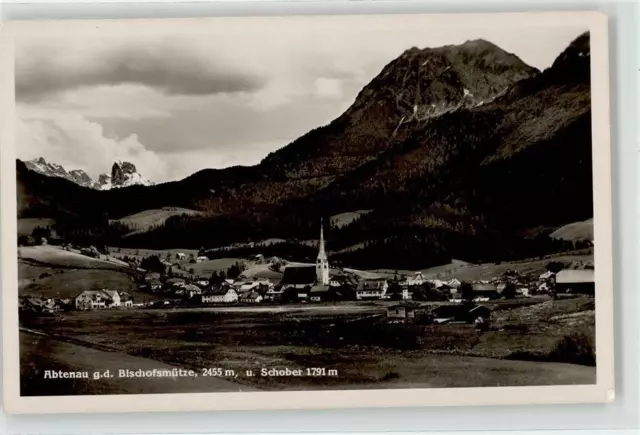
{"type": "Polygon", "coordinates": [[[111,176],[100,174],[97,181],[82,169],[67,171],[62,165],[47,162],[43,157],[25,162],[28,169],[49,177],[59,177],[72,181],[79,186],[98,190],[109,190],[114,187],[133,185],[151,186],[153,183],[140,175],[133,163],[115,162],[111,168],[111,176]]]}

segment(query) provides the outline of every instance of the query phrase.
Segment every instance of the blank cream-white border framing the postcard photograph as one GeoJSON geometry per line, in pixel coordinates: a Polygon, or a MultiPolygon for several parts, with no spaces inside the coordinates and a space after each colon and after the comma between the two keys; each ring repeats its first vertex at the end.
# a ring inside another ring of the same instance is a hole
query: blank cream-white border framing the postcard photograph
{"type": "Polygon", "coordinates": [[[2,209],[3,406],[9,413],[144,412],[198,410],[337,409],[453,405],[515,405],[609,402],[614,399],[613,258],[609,51],[607,16],[600,12],[532,12],[508,14],[337,15],[149,20],[65,20],[4,23],[0,30],[0,175],[2,209]],[[594,259],[596,276],[597,383],[577,386],[481,387],[436,389],[332,390],[301,392],[185,393],[155,395],[20,396],[18,342],[17,219],[15,168],[15,90],[13,41],[32,32],[171,33],[212,21],[424,20],[425,25],[456,26],[522,23],[538,26],[583,25],[591,33],[591,95],[594,186],[594,259]],[[133,23],[132,23],[133,22],[133,23]]]}

